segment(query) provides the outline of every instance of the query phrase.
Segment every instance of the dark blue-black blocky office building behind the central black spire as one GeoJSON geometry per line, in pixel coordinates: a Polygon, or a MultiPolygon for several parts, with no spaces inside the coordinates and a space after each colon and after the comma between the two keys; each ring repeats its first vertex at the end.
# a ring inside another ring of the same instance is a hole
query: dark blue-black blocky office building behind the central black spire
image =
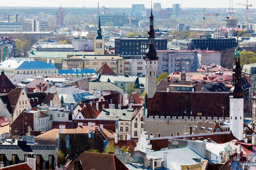
{"type": "MultiPolygon", "coordinates": [[[[115,39],[115,54],[122,55],[145,55],[148,48],[147,37],[127,37],[115,39]]],[[[166,39],[155,39],[157,50],[167,50],[166,39]]]]}

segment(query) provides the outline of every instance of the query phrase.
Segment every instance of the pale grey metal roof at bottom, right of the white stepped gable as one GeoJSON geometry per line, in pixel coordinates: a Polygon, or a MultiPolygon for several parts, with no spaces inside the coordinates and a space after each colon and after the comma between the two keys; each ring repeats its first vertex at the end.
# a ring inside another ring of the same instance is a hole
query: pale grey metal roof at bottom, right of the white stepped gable
{"type": "MultiPolygon", "coordinates": [[[[165,153],[165,152],[168,153],[168,168],[177,166],[177,169],[181,169],[180,168],[181,164],[193,165],[193,164],[198,164],[198,162],[195,161],[194,159],[200,158],[201,160],[204,160],[203,156],[196,153],[190,147],[159,150],[159,151],[150,152],[150,155],[163,158],[163,153],[165,153]]],[[[163,159],[162,159],[162,161],[163,161],[163,159]]]]}

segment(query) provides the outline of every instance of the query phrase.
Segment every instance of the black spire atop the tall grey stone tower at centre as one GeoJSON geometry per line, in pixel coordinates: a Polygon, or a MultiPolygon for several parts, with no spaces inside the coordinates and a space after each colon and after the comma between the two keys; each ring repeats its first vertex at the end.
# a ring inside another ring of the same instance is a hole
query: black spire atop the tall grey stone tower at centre
{"type": "Polygon", "coordinates": [[[154,16],[152,13],[152,1],[151,1],[151,15],[149,16],[149,29],[148,29],[148,48],[145,51],[145,60],[158,60],[157,51],[154,45],[155,31],[154,31],[154,16]]]}

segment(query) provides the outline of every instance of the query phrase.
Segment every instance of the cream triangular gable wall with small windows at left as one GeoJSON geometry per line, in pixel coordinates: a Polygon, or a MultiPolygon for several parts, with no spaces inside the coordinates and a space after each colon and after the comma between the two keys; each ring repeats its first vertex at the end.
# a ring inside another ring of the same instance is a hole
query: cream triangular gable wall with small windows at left
{"type": "Polygon", "coordinates": [[[20,113],[26,109],[26,107],[31,107],[30,102],[29,102],[29,98],[26,95],[26,91],[25,88],[23,88],[21,90],[17,105],[15,107],[15,110],[13,112],[13,120],[15,121],[15,119],[20,115],[20,113]]]}

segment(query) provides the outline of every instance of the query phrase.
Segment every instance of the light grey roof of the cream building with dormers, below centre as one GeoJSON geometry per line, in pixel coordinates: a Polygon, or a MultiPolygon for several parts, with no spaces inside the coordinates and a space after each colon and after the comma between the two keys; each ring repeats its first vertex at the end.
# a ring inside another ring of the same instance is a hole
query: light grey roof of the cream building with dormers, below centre
{"type": "Polygon", "coordinates": [[[105,113],[108,116],[118,116],[120,120],[131,120],[134,114],[134,109],[105,109],[96,119],[101,119],[101,114],[105,113]]]}

